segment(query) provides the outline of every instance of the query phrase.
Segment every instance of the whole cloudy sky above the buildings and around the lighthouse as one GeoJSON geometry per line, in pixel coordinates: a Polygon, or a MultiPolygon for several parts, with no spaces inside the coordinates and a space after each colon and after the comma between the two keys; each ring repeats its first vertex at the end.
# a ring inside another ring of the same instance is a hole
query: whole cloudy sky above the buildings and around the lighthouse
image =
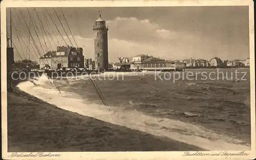
{"type": "MultiPolygon", "coordinates": [[[[169,60],[249,57],[248,6],[83,7],[12,8],[15,60],[28,59],[27,48],[30,48],[30,59],[38,60],[47,51],[56,50],[57,45],[73,44],[76,47],[76,43],[83,48],[86,58],[94,59],[92,26],[99,11],[109,27],[110,62],[116,62],[117,57],[138,54],[169,60]],[[33,37],[31,43],[28,31],[33,37]]],[[[7,30],[10,34],[8,9],[7,30]]]]}

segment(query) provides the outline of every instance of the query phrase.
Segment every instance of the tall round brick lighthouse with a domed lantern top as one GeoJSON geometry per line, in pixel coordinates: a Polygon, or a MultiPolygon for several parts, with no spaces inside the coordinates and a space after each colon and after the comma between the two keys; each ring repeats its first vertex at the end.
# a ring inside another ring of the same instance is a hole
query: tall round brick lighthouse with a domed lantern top
{"type": "Polygon", "coordinates": [[[95,21],[94,31],[94,52],[95,52],[95,69],[108,70],[109,68],[109,52],[108,52],[108,31],[106,22],[101,18],[95,21]]]}

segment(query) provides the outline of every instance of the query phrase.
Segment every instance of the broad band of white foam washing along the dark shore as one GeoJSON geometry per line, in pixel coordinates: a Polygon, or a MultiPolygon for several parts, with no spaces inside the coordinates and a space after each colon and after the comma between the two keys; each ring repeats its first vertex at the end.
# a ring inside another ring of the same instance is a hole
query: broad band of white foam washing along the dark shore
{"type": "Polygon", "coordinates": [[[90,102],[82,100],[79,95],[74,93],[63,91],[59,93],[55,88],[42,87],[46,85],[47,81],[49,79],[42,76],[37,81],[34,81],[39,86],[28,81],[18,84],[17,87],[28,94],[56,105],[59,108],[76,112],[79,115],[92,117],[157,136],[164,136],[206,150],[250,150],[250,146],[235,144],[240,143],[239,140],[224,137],[201,126],[166,118],[154,118],[143,115],[143,113],[136,110],[117,110],[115,107],[110,107],[110,111],[104,105],[90,104],[90,102]]]}

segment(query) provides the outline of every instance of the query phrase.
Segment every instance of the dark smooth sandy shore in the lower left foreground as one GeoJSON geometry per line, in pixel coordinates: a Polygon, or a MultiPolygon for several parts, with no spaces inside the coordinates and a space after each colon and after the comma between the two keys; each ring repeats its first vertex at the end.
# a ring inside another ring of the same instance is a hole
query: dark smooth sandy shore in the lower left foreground
{"type": "Polygon", "coordinates": [[[8,152],[204,150],[60,109],[16,87],[7,110],[8,152]]]}

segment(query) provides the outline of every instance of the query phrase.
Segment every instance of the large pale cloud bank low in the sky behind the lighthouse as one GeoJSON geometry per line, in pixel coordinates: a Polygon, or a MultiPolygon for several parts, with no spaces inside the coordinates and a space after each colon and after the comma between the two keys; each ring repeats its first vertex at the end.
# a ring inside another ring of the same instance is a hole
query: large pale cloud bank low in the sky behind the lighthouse
{"type": "MultiPolygon", "coordinates": [[[[163,27],[160,23],[156,24],[156,22],[147,18],[115,17],[112,20],[107,20],[106,24],[109,26],[109,61],[111,62],[115,62],[117,57],[132,57],[138,54],[148,54],[173,60],[187,57],[209,59],[215,56],[227,59],[228,56],[223,55],[229,55],[230,50],[235,48],[233,45],[225,47],[219,41],[221,37],[216,40],[205,32],[195,32],[193,29],[174,30],[170,26],[165,25],[163,27]]],[[[74,34],[76,43],[83,48],[85,57],[94,59],[93,31],[89,27],[85,27],[82,31],[80,35],[74,34]]],[[[64,35],[62,33],[65,41],[71,45],[68,37],[64,35]]],[[[45,51],[56,50],[57,45],[66,45],[58,34],[57,36],[52,34],[52,38],[54,42],[50,39],[50,42],[47,42],[49,49],[44,49],[45,51]]],[[[69,38],[72,44],[75,44],[71,35],[69,35],[69,38]]],[[[34,39],[36,40],[36,38],[34,39]]],[[[18,41],[14,41],[18,45],[18,41]]],[[[41,51],[38,41],[36,44],[40,53],[45,53],[45,51],[41,51]]],[[[245,47],[236,49],[234,52],[242,53],[244,52],[242,51],[243,48],[245,47]]],[[[23,51],[26,56],[26,47],[23,47],[23,51]]],[[[33,52],[37,54],[36,51],[33,52]]]]}

